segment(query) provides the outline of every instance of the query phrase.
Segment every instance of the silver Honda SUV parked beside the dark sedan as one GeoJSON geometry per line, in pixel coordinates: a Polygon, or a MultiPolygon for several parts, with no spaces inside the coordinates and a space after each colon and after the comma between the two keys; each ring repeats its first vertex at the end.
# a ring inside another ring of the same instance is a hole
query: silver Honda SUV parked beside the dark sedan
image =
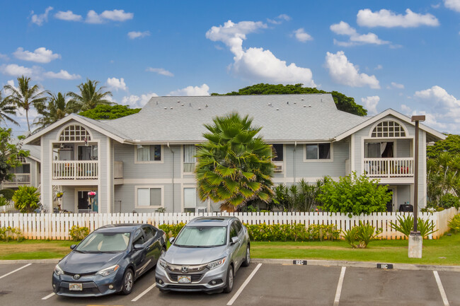
{"type": "Polygon", "coordinates": [[[240,266],[251,261],[248,230],[236,217],[190,220],[156,266],[161,292],[231,292],[240,266]]]}

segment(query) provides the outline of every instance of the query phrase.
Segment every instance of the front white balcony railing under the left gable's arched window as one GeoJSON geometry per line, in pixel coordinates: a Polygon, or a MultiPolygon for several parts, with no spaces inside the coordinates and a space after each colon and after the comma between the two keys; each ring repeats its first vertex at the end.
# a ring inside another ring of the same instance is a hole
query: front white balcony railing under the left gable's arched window
{"type": "Polygon", "coordinates": [[[97,180],[98,160],[56,160],[52,163],[53,180],[97,180]]]}

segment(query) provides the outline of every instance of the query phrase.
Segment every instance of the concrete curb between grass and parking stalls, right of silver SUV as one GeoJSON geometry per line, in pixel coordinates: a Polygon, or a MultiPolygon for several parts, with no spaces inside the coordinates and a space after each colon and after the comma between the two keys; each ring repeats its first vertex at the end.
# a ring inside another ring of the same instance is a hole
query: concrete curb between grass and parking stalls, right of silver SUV
{"type": "MultiPolygon", "coordinates": [[[[262,264],[293,264],[295,259],[261,259],[253,258],[252,261],[262,264]]],[[[377,263],[373,261],[340,261],[340,260],[318,260],[301,259],[307,262],[308,266],[351,266],[356,268],[377,268],[377,264],[391,264],[389,262],[377,263]]],[[[460,272],[460,266],[436,266],[429,264],[392,264],[397,270],[422,270],[422,271],[452,271],[460,272]]]]}

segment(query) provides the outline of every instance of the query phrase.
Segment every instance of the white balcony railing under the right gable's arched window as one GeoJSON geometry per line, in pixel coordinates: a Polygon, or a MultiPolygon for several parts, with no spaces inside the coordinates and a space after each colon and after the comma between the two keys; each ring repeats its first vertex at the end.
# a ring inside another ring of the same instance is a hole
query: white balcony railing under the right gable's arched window
{"type": "Polygon", "coordinates": [[[413,158],[364,158],[367,177],[413,177],[413,158]]]}

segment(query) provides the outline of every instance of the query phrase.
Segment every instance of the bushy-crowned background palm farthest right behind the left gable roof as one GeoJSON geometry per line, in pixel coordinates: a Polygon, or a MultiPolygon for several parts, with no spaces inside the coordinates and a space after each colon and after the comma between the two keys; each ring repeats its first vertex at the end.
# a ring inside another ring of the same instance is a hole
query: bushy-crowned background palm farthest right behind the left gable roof
{"type": "Polygon", "coordinates": [[[68,93],[71,100],[69,101],[69,107],[72,112],[80,112],[85,110],[92,110],[94,107],[105,104],[112,105],[113,102],[107,100],[108,97],[112,96],[110,91],[105,91],[103,86],[98,88],[98,81],[91,81],[86,79],[86,83],[81,83],[77,86],[80,90],[80,93],[68,93]]]}

